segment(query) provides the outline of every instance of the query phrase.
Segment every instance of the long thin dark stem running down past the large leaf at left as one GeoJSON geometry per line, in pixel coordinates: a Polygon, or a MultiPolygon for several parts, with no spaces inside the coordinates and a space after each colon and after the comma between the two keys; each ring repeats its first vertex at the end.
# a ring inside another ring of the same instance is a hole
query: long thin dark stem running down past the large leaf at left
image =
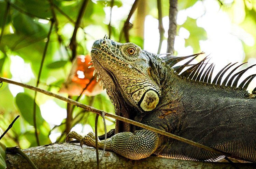
{"type": "MultiPolygon", "coordinates": [[[[41,60],[41,64],[40,64],[40,68],[39,68],[39,73],[38,73],[38,77],[37,77],[37,85],[36,87],[38,87],[39,82],[40,82],[40,77],[41,77],[41,73],[42,73],[42,69],[43,69],[43,63],[44,63],[44,59],[46,56],[46,52],[48,49],[48,44],[50,41],[50,37],[51,37],[51,33],[52,33],[52,29],[53,29],[53,24],[54,24],[54,20],[51,20],[51,27],[47,36],[47,42],[45,43],[44,46],[44,52],[43,52],[43,56],[42,56],[42,60],[41,60]]],[[[37,113],[36,113],[36,103],[35,103],[35,99],[37,98],[37,92],[35,92],[34,94],[34,104],[33,104],[33,121],[34,121],[34,128],[35,128],[35,138],[37,139],[37,145],[40,146],[40,142],[39,142],[39,136],[38,136],[38,131],[37,131],[37,113]]]]}

